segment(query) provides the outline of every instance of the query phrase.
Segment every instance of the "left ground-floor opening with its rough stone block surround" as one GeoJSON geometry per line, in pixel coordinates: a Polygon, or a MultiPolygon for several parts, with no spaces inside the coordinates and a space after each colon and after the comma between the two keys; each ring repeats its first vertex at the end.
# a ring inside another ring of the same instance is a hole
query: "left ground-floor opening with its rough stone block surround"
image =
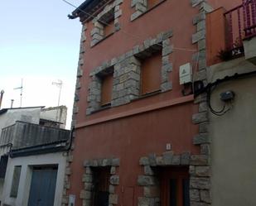
{"type": "Polygon", "coordinates": [[[85,206],[100,206],[101,200],[108,201],[108,205],[118,204],[118,194],[115,187],[119,184],[117,175],[120,160],[118,158],[85,160],[85,188],[80,192],[85,206]]]}

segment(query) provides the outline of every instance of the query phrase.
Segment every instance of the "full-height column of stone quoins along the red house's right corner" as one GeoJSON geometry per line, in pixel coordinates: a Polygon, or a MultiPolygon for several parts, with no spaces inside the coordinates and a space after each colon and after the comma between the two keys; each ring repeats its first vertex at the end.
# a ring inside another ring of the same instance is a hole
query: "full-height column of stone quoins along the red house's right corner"
{"type": "MultiPolygon", "coordinates": [[[[198,71],[194,80],[201,80],[206,85],[206,13],[213,9],[205,0],[191,0],[192,7],[199,8],[199,14],[193,18],[193,24],[196,26],[196,33],[192,36],[192,43],[197,44],[198,52],[194,55],[194,60],[198,61],[198,71]]],[[[198,104],[198,113],[192,117],[192,122],[199,125],[199,134],[194,137],[193,143],[200,146],[200,160],[207,160],[201,164],[190,165],[190,194],[191,206],[210,206],[210,137],[208,131],[208,106],[207,99],[201,94],[195,99],[198,104]]],[[[193,160],[193,158],[191,159],[193,160]]]]}

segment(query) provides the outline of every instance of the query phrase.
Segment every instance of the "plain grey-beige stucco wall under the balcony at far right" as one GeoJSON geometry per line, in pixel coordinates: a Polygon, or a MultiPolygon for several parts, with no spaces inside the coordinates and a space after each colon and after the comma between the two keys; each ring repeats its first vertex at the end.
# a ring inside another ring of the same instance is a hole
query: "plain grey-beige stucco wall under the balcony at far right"
{"type": "MultiPolygon", "coordinates": [[[[208,71],[214,81],[236,72],[256,70],[244,58],[215,65],[208,71]]],[[[220,93],[233,90],[233,108],[222,117],[210,113],[213,206],[255,206],[256,188],[256,76],[220,84],[211,104],[220,109],[220,93]]]]}

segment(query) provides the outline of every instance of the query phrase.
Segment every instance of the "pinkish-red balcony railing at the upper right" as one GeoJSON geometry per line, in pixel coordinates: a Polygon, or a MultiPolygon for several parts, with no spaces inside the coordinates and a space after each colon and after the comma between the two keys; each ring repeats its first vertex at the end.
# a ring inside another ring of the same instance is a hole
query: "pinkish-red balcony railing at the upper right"
{"type": "Polygon", "coordinates": [[[256,36],[256,0],[243,0],[238,7],[225,12],[228,24],[228,49],[242,52],[243,40],[256,36]]]}

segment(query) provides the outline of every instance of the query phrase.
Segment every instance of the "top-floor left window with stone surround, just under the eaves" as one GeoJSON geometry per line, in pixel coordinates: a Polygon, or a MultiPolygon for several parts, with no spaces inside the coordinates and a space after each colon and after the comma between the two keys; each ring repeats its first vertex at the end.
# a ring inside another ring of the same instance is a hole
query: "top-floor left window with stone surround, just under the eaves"
{"type": "Polygon", "coordinates": [[[123,0],[115,0],[104,7],[104,10],[97,17],[94,17],[94,28],[90,32],[92,37],[90,46],[95,46],[99,41],[103,41],[115,31],[120,30],[119,17],[122,15],[122,10],[120,9],[122,2],[123,0]]]}

